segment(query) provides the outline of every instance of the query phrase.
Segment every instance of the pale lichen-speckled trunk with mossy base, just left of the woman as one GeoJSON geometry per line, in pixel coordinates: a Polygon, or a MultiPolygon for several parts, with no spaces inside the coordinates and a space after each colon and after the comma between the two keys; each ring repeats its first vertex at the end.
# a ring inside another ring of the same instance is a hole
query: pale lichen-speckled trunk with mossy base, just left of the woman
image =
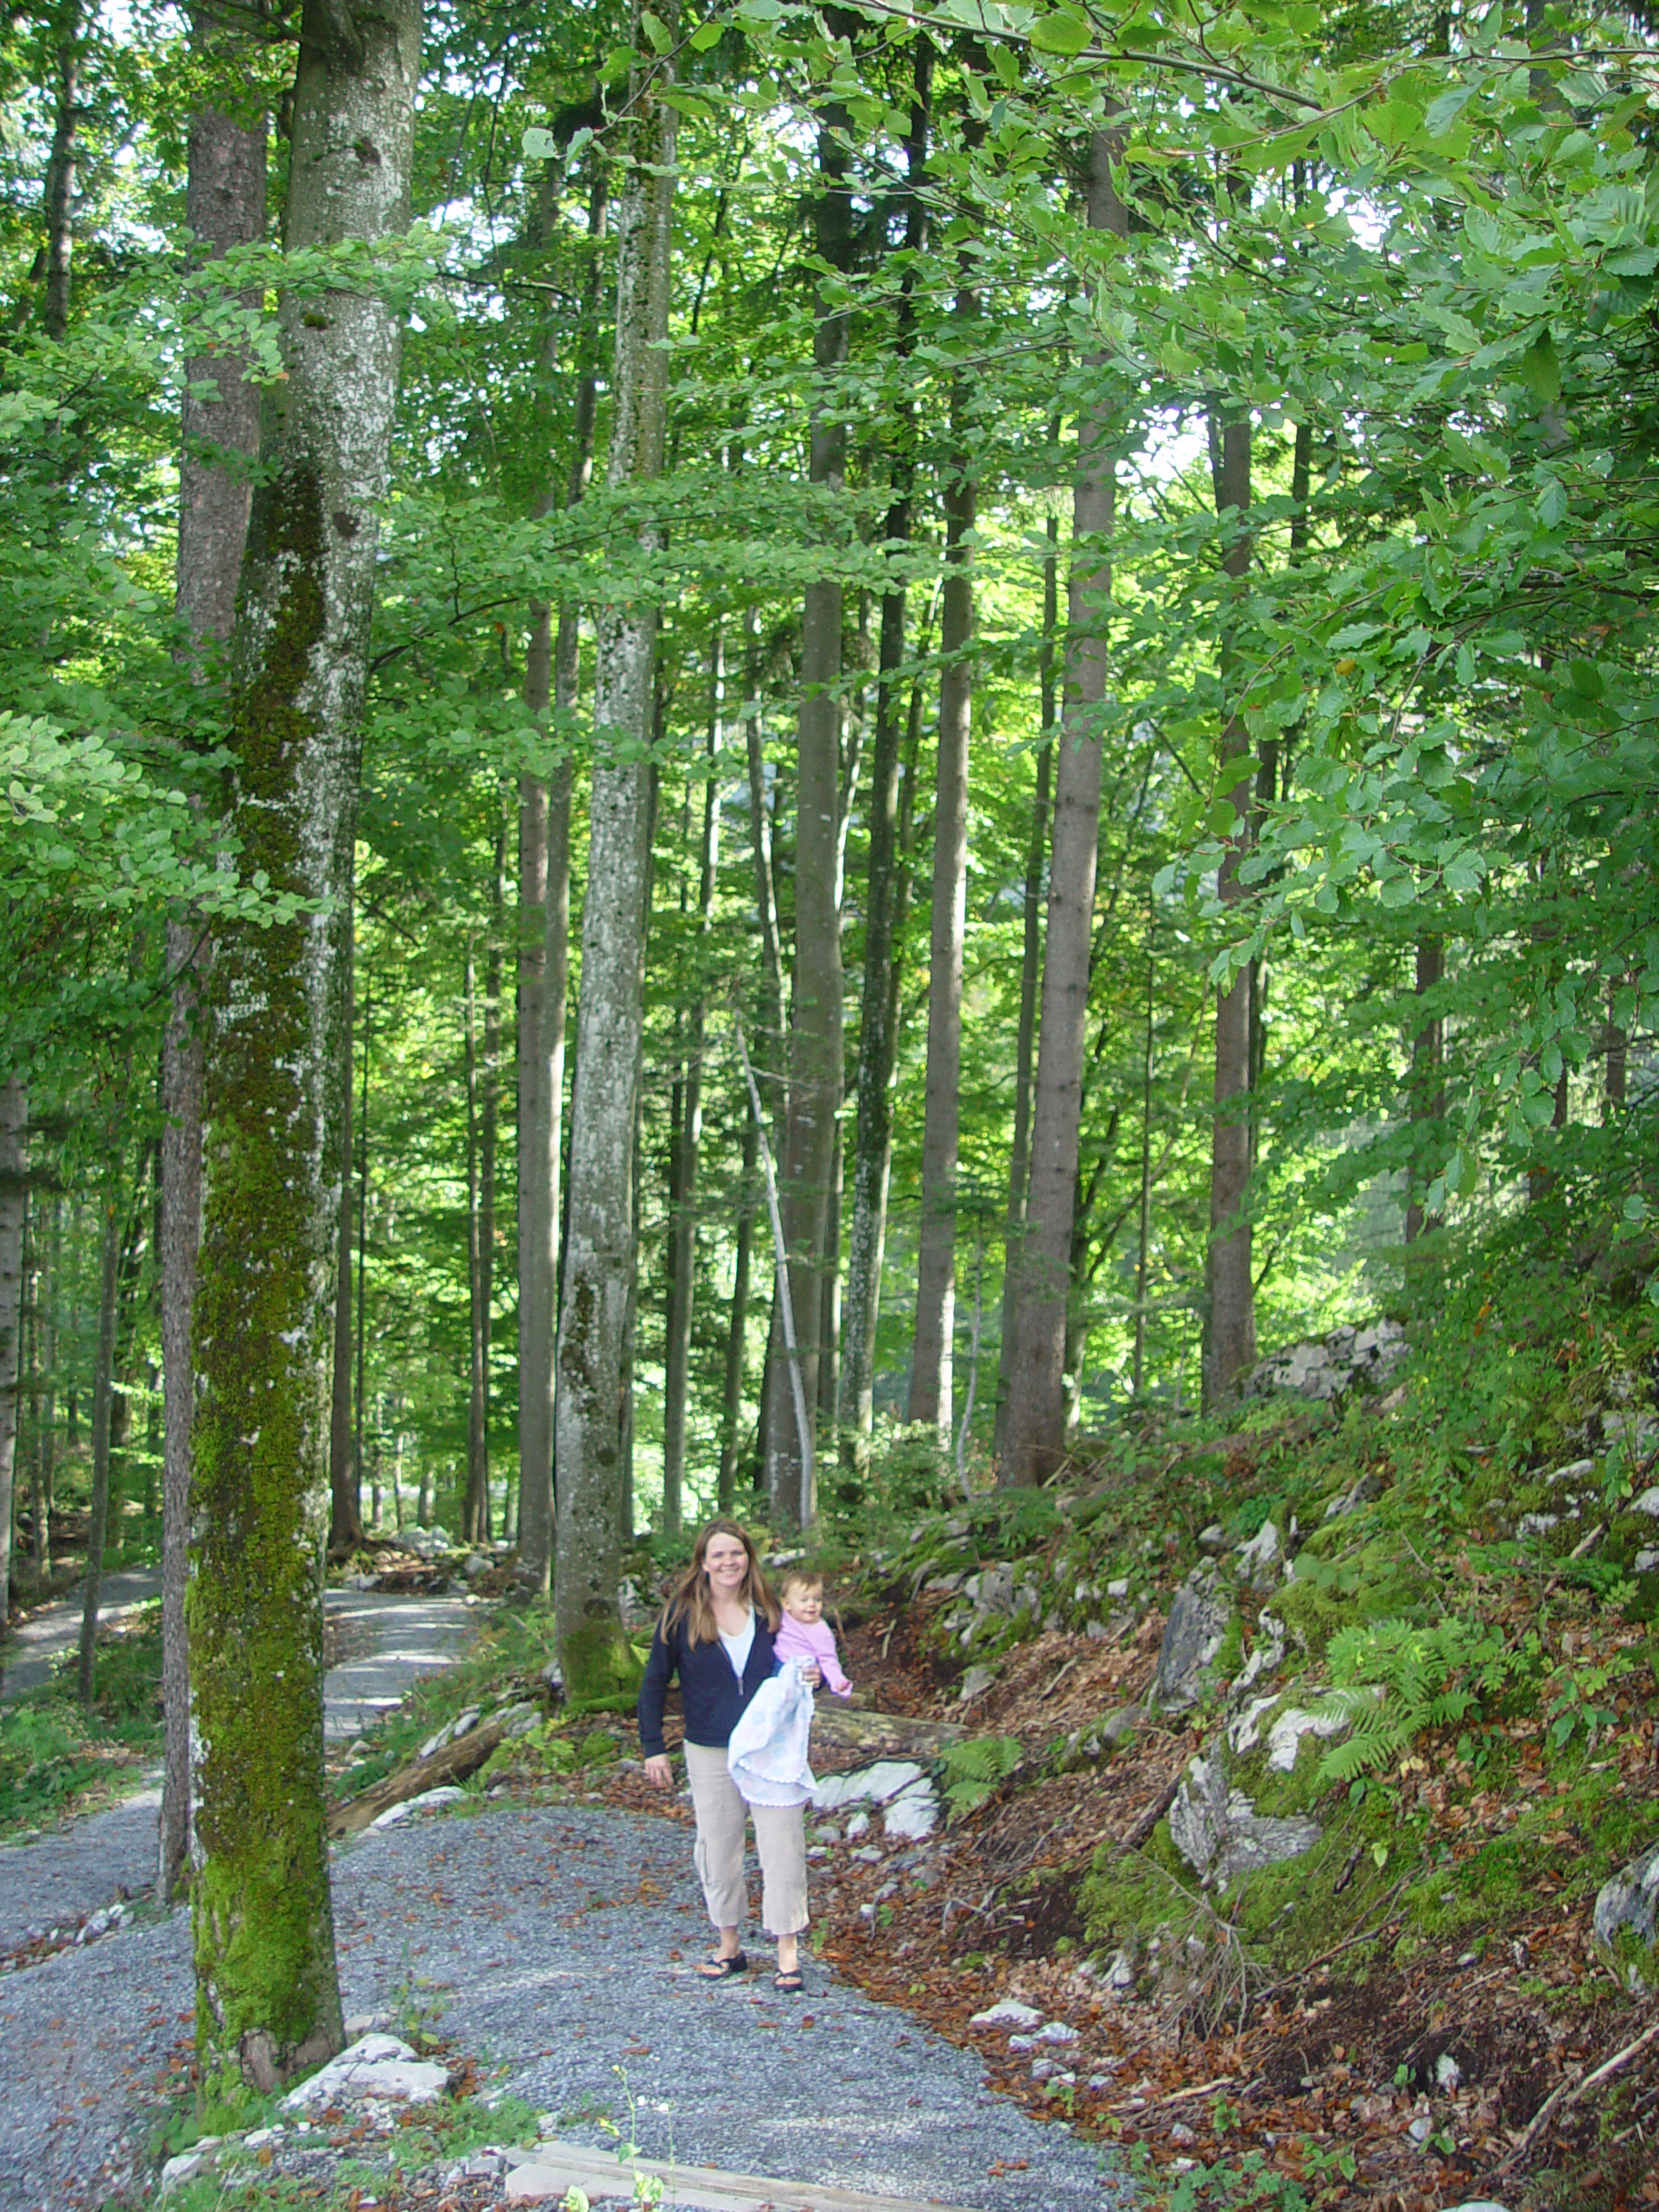
{"type": "MultiPolygon", "coordinates": [[[[635,11],[637,13],[637,11],[635,11]]],[[[670,9],[666,20],[672,20],[670,9]]],[[[637,44],[648,44],[637,27],[637,44]]],[[[617,210],[613,491],[661,473],[668,290],[672,274],[675,108],[670,69],[637,66],[617,210]]],[[[648,524],[648,546],[657,526],[648,524]]],[[[635,1086],[644,1035],[650,894],[653,657],[657,608],[599,613],[582,911],[577,1084],[557,1347],[555,1615],[571,1697],[611,1694],[635,1677],[617,1610],[624,1356],[633,1281],[635,1086]]]]}

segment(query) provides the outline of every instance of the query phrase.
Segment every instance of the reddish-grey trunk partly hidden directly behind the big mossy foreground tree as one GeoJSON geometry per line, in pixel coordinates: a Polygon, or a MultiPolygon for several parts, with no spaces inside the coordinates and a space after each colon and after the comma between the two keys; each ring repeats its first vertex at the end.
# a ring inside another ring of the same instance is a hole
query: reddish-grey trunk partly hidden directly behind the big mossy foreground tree
{"type": "MultiPolygon", "coordinates": [[[[197,40],[212,33],[197,18],[197,40]]],[[[243,128],[219,108],[190,117],[184,215],[199,252],[219,257],[265,232],[265,119],[243,128]]],[[[257,294],[243,294],[257,305],[257,294]]],[[[210,453],[259,453],[259,387],[246,354],[186,361],[179,460],[179,566],[175,604],[192,648],[223,646],[237,619],[237,580],[248,542],[250,469],[210,453]],[[190,385],[212,385],[212,398],[190,385]]],[[[173,1898],[190,1863],[190,1652],[186,1577],[190,1548],[190,1422],[195,1374],[190,1310],[201,1234],[201,931],[170,920],[166,962],[173,975],[161,1044],[161,1832],[157,1896],[173,1898]]]]}

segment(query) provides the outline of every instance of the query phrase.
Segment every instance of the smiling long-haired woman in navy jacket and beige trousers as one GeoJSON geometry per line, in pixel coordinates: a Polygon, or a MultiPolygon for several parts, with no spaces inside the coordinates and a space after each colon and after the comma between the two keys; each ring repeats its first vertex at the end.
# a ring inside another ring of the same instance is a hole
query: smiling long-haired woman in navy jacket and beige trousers
{"type": "MultiPolygon", "coordinates": [[[[754,1816],[765,1893],[761,1927],[776,1936],[779,1971],[772,1986],[801,1989],[796,1938],[807,1924],[807,1840],[799,1805],[745,1805],[726,1767],[726,1745],[754,1692],[772,1674],[772,1635],[779,1601],[768,1590],[745,1528],[712,1520],[697,1537],[692,1564],[661,1608],[639,1690],[639,1745],[646,1776],[657,1790],[672,1781],[661,1741],[661,1710],[670,1677],[679,1674],[686,1708],[686,1776],[697,1809],[697,1878],[719,1951],[699,1966],[710,1982],[748,1973],[739,1942],[745,1907],[743,1820],[754,1816]]],[[[816,1688],[816,1666],[801,1668],[816,1688]]]]}

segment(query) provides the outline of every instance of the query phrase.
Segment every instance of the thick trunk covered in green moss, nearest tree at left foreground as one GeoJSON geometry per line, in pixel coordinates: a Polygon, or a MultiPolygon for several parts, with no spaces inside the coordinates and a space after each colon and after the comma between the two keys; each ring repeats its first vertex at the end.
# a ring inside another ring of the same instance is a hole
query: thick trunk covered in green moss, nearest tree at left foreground
{"type": "MultiPolygon", "coordinates": [[[[307,4],[290,250],[409,217],[416,0],[307,4]]],[[[195,1303],[192,1887],[208,2108],[341,2044],[323,1829],[327,1367],[345,1055],[345,889],[398,325],[356,292],[288,296],[232,637],[232,827],[276,896],[325,900],[215,947],[195,1303]]]]}

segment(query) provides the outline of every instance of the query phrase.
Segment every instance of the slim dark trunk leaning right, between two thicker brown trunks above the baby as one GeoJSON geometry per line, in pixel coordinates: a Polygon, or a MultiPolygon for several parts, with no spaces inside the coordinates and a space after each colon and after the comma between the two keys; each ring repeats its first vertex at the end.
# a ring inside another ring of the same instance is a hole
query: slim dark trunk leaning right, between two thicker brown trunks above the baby
{"type": "MultiPolygon", "coordinates": [[[[916,86],[909,113],[905,248],[920,252],[927,215],[920,197],[927,164],[927,113],[931,97],[933,46],[916,42],[916,86]]],[[[902,279],[896,354],[907,358],[914,347],[911,279],[902,279]]],[[[894,438],[887,507],[887,546],[894,555],[909,546],[911,484],[916,476],[914,407],[900,405],[894,438]]],[[[869,1462],[869,1433],[876,1416],[876,1321],[880,1318],[880,1256],[887,1221],[887,1172],[894,1155],[894,1060],[898,1053],[891,971],[898,916],[898,768],[902,757],[902,714],[898,670],[905,661],[905,580],[894,577],[880,602],[880,635],[876,644],[876,732],[869,759],[869,874],[865,880],[865,980],[858,1004],[858,1137],[852,1166],[852,1225],[847,1232],[847,1294],[843,1301],[843,1385],[841,1402],[849,1411],[843,1431],[843,1471],[856,1482],[869,1462]]]]}

